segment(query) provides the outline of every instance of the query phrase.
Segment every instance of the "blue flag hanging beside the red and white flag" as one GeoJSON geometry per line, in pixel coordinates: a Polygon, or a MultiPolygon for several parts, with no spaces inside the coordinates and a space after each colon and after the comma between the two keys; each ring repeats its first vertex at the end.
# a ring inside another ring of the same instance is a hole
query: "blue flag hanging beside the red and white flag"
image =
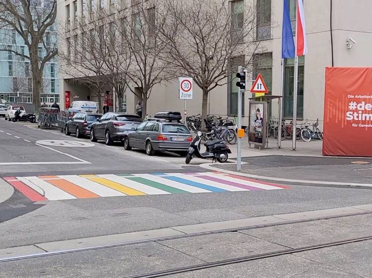
{"type": "Polygon", "coordinates": [[[288,0],[284,0],[283,7],[282,58],[295,58],[295,41],[293,40],[288,0]]]}

